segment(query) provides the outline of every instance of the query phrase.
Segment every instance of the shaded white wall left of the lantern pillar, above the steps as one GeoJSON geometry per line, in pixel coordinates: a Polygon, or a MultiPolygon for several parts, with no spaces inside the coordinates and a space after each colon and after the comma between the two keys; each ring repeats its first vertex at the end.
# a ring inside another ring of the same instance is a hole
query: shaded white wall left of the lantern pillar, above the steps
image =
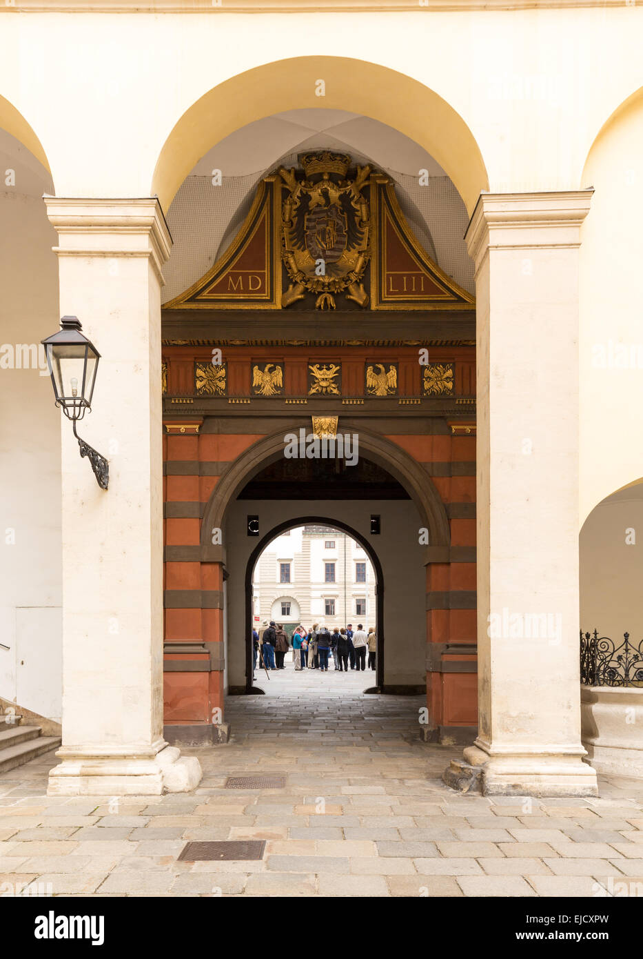
{"type": "Polygon", "coordinates": [[[41,199],[50,190],[31,153],[0,131],[0,697],[59,721],[60,411],[36,355],[58,328],[57,237],[41,199]]]}

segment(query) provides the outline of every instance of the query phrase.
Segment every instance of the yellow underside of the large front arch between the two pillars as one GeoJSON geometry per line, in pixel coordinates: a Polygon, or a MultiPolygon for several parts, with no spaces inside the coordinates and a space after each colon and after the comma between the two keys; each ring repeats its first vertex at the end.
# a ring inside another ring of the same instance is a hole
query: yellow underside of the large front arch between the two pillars
{"type": "Polygon", "coordinates": [[[151,194],[169,209],[197,160],[224,137],[280,111],[319,107],[350,110],[399,129],[425,147],[453,180],[471,214],[489,189],[485,164],[459,113],[424,83],[380,63],[346,57],[293,57],[231,77],[195,102],[174,125],[152,176],[151,194]],[[323,104],[315,96],[325,82],[323,104]]]}

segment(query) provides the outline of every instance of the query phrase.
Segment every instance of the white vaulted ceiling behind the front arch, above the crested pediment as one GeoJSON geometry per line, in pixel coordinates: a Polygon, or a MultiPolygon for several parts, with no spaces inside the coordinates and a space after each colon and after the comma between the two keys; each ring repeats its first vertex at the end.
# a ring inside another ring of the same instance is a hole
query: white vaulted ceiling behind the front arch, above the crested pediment
{"type": "Polygon", "coordinates": [[[231,133],[196,163],[172,201],[168,225],[174,246],[164,269],[163,301],[186,290],[215,263],[250,207],[257,183],[279,166],[297,166],[309,150],[350,153],[390,175],[402,211],[419,242],[437,264],[469,292],[473,265],[464,234],[465,205],[445,171],[399,130],[343,110],[289,110],[231,133]],[[220,170],[221,184],[213,185],[220,170]],[[420,171],[428,174],[420,185],[420,171]]]}

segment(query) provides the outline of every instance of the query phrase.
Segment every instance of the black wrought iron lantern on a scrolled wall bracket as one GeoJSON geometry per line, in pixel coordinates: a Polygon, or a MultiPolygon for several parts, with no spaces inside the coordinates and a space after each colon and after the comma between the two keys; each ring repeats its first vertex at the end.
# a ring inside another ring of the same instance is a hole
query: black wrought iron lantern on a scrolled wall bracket
{"type": "Polygon", "coordinates": [[[87,456],[99,486],[107,489],[109,463],[76,432],[77,420],[82,419],[87,410],[91,411],[96,370],[101,359],[94,344],[81,331],[77,316],[63,316],[60,330],[43,339],[42,345],[54,385],[56,406],[62,407],[65,416],[72,421],[80,456],[87,456]]]}

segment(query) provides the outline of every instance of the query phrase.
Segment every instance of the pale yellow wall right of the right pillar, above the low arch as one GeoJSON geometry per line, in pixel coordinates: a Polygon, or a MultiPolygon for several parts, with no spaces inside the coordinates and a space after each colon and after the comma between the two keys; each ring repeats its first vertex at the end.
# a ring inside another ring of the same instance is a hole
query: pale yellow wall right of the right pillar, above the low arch
{"type": "Polygon", "coordinates": [[[596,141],[581,246],[581,523],[643,477],[643,94],[596,141]]]}

